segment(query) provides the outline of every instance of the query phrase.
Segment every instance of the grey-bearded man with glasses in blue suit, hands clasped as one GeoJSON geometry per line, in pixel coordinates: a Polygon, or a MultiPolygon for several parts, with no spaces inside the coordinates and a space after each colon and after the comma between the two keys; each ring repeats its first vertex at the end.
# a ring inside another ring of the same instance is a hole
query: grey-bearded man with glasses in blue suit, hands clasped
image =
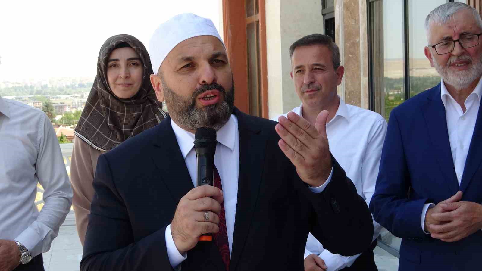
{"type": "Polygon", "coordinates": [[[392,110],[370,209],[402,238],[399,270],[480,270],[482,19],[451,2],[425,28],[442,81],[392,110]]]}

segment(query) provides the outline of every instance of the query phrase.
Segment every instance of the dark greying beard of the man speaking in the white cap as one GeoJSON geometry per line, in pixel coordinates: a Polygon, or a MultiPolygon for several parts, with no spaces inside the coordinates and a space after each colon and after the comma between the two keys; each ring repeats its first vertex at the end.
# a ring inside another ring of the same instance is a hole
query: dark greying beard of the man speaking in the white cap
{"type": "Polygon", "coordinates": [[[224,94],[223,102],[203,108],[196,107],[196,97],[205,92],[204,89],[197,89],[191,97],[184,98],[169,88],[165,80],[162,80],[162,88],[169,115],[177,125],[190,131],[200,127],[217,131],[229,121],[234,109],[234,81],[229,92],[224,91],[224,88],[218,89],[224,94]]]}

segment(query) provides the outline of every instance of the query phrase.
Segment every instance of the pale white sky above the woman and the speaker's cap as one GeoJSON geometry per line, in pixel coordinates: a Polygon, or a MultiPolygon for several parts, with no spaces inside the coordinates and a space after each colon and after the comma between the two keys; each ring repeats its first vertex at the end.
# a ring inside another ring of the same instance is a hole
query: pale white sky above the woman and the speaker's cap
{"type": "MultiPolygon", "coordinates": [[[[0,81],[92,77],[107,38],[130,34],[148,50],[170,17],[194,13],[220,29],[219,0],[1,0],[0,81]]],[[[222,33],[221,33],[222,35],[222,33]]]]}

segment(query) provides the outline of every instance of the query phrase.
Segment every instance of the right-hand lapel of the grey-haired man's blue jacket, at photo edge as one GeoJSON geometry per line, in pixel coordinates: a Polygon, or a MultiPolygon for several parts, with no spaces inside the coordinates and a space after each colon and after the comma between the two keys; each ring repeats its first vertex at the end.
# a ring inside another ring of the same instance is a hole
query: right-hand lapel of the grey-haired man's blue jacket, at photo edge
{"type": "Polygon", "coordinates": [[[474,133],[470,140],[469,153],[467,154],[467,160],[465,161],[464,173],[462,175],[462,181],[460,182],[460,190],[465,192],[465,189],[469,186],[472,177],[479,168],[482,161],[482,144],[479,141],[482,138],[482,106],[479,106],[479,112],[477,113],[477,121],[475,121],[474,133]]]}

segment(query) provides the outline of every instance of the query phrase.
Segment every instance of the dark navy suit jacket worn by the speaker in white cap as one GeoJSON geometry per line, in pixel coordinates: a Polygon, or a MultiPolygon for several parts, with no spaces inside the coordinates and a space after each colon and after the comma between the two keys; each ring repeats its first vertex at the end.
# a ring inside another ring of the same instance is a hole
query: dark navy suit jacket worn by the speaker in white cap
{"type": "MultiPolygon", "coordinates": [[[[371,214],[335,159],[331,182],[313,193],[278,147],[276,122],[234,114],[240,166],[230,271],[303,270],[309,231],[334,253],[369,247],[371,214]]],[[[170,118],[101,155],[80,270],[172,270],[165,229],[193,188],[170,118]]],[[[200,242],[181,270],[225,267],[215,243],[200,242]]]]}

